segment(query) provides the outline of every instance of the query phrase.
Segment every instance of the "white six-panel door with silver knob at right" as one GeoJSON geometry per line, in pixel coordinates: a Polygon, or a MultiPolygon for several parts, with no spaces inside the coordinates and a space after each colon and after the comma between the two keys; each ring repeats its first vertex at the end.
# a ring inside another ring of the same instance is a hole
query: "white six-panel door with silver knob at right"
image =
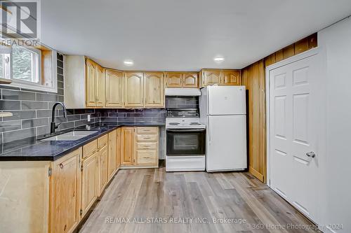
{"type": "Polygon", "coordinates": [[[270,71],[270,186],[317,219],[319,55],[270,71]]]}

